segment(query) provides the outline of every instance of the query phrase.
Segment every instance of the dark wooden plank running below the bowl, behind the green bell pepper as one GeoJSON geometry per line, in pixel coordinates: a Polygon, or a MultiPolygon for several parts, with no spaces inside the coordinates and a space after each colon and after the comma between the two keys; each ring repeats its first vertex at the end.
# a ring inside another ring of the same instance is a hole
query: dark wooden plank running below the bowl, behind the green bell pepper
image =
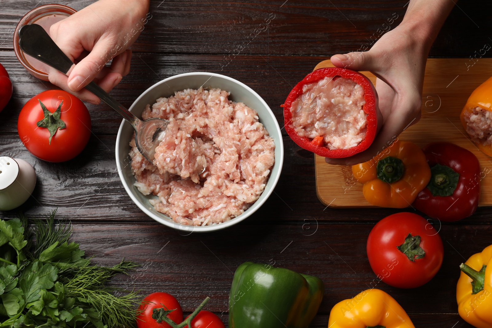
{"type": "MultiPolygon", "coordinates": [[[[61,210],[59,218],[65,216],[61,210]]],[[[431,282],[412,290],[390,287],[375,279],[366,256],[366,239],[371,228],[371,224],[321,224],[315,234],[306,236],[300,225],[243,224],[217,233],[183,236],[183,232],[151,222],[78,223],[74,225],[72,240],[80,242],[96,263],[110,265],[124,257],[143,264],[130,277],[119,276],[114,283],[123,288],[134,285],[144,294],[168,292],[180,300],[185,311],[191,311],[208,295],[212,297],[208,309],[226,312],[235,268],[245,261],[275,261],[275,266],[323,280],[325,297],[320,315],[328,315],[342,299],[352,298],[368,288],[379,288],[392,295],[412,320],[420,323],[417,327],[452,326],[425,325],[427,321],[445,320],[446,325],[461,322],[455,301],[458,266],[490,243],[492,227],[443,227],[440,231],[445,251],[443,266],[431,282]],[[420,313],[425,312],[440,316],[424,319],[420,313]]],[[[323,320],[326,325],[326,317],[323,320]]]]}

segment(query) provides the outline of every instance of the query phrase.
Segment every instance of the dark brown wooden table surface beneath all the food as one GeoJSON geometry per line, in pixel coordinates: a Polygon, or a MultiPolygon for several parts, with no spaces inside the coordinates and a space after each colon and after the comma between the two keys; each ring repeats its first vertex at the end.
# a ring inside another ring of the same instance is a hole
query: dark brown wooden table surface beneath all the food
{"type": "MultiPolygon", "coordinates": [[[[376,284],[366,256],[366,239],[374,223],[399,210],[325,208],[316,198],[312,153],[300,149],[284,131],[284,167],[275,193],[246,221],[211,234],[183,236],[157,224],[131,202],[116,171],[114,147],[121,118],[104,104],[87,104],[93,134],[81,155],[66,163],[32,156],[17,135],[17,117],[28,99],[54,86],[32,77],[18,62],[12,33],[36,2],[1,1],[0,62],[10,74],[14,93],[0,113],[0,154],[23,158],[36,170],[36,189],[21,208],[26,214],[42,218],[58,208],[58,217],[73,223],[73,240],[82,243],[94,262],[114,264],[124,257],[143,265],[130,277],[116,277],[115,285],[135,286],[143,293],[168,292],[187,313],[208,295],[212,298],[208,309],[227,323],[235,268],[245,261],[275,261],[276,266],[324,281],[324,300],[312,327],[327,327],[335,303],[374,286],[396,298],[416,327],[471,327],[457,314],[458,266],[491,243],[490,208],[480,208],[458,223],[442,224],[441,270],[423,287],[400,290],[376,284]]],[[[90,2],[61,1],[77,10],[90,2]]],[[[152,18],[132,47],[131,72],[112,94],[130,106],[143,90],[166,77],[192,71],[221,73],[256,90],[282,125],[279,105],[292,86],[319,61],[356,51],[363,44],[370,46],[371,36],[387,29],[383,24],[388,19],[398,17],[390,25],[396,27],[406,2],[153,1],[152,18]],[[271,22],[265,30],[260,24],[267,18],[271,22]]],[[[49,1],[39,2],[45,3],[49,1]]],[[[469,58],[484,44],[492,44],[492,3],[460,1],[458,5],[437,37],[431,57],[469,58]]],[[[16,213],[1,212],[1,217],[16,213]]]]}

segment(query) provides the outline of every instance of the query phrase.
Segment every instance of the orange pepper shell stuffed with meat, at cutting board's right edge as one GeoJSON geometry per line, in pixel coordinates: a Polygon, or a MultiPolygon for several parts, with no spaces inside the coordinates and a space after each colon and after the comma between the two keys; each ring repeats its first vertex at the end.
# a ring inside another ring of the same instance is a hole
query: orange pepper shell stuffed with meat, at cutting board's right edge
{"type": "MultiPolygon", "coordinates": [[[[460,119],[465,131],[467,131],[467,124],[465,120],[465,113],[471,113],[475,108],[481,108],[486,111],[492,112],[492,77],[487,81],[482,83],[477,89],[475,89],[471,94],[463,110],[461,111],[460,119]]],[[[489,156],[492,156],[492,144],[484,145],[483,141],[480,139],[472,138],[472,140],[477,144],[478,149],[482,150],[489,156]]]]}

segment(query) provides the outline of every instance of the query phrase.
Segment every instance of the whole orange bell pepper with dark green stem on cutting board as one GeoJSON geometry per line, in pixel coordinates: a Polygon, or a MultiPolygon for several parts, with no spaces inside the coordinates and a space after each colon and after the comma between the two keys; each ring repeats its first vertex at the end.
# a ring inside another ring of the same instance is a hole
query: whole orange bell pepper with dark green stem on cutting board
{"type": "Polygon", "coordinates": [[[431,179],[424,152],[398,139],[370,161],[352,166],[352,173],[364,183],[362,190],[369,203],[397,209],[412,204],[431,179]]]}

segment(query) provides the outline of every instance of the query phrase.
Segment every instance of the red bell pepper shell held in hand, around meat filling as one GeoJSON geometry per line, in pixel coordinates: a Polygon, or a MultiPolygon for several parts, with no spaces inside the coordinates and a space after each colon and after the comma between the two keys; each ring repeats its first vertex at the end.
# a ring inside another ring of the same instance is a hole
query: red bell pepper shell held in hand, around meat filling
{"type": "Polygon", "coordinates": [[[377,120],[380,118],[378,111],[377,93],[369,79],[359,72],[339,67],[320,68],[307,74],[307,76],[290,91],[285,103],[283,104],[285,131],[287,131],[289,137],[300,147],[312,151],[320,156],[330,158],[349,157],[368,149],[377,133],[377,120]],[[351,79],[364,89],[364,100],[366,101],[366,104],[364,105],[363,110],[368,115],[366,138],[357,146],[349,149],[328,149],[322,142],[320,142],[319,138],[309,139],[307,137],[299,136],[291,124],[292,113],[290,109],[292,102],[303,93],[304,85],[332,76],[340,76],[351,79]]]}

